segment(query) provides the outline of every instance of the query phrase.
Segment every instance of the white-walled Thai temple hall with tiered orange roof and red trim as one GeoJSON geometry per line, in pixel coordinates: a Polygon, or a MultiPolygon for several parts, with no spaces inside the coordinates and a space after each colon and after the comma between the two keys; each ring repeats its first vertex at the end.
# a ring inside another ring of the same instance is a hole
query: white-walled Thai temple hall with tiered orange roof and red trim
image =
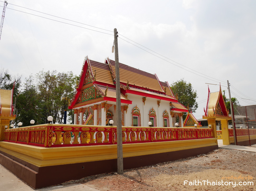
{"type": "MultiPolygon", "coordinates": [[[[156,74],[119,63],[122,126],[183,127],[186,107],[178,102],[168,82],[156,74]]],[[[116,125],[115,61],[104,63],[85,57],[76,93],[69,109],[74,109],[74,124],[116,125]]]]}

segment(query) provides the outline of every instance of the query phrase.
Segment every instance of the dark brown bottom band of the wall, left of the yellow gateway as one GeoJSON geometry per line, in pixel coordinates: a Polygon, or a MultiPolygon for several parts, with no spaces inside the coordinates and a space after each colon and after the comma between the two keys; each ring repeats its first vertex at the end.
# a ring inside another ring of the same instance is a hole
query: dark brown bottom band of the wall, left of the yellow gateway
{"type": "MultiPolygon", "coordinates": [[[[217,148],[218,146],[215,145],[182,151],[127,157],[123,159],[124,169],[138,168],[192,157],[198,154],[205,154],[217,148]]],[[[117,159],[37,167],[2,151],[0,151],[0,163],[34,189],[60,184],[69,180],[77,180],[91,175],[117,171],[117,159]]]]}

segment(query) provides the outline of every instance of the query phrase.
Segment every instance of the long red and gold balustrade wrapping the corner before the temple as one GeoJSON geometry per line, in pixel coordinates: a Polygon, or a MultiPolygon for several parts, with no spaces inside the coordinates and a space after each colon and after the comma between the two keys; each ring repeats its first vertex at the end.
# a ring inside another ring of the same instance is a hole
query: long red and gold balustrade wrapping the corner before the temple
{"type": "MultiPolygon", "coordinates": [[[[115,126],[45,124],[4,130],[4,140],[40,147],[116,144],[115,126]]],[[[123,143],[212,138],[211,128],[122,127],[123,143]]]]}

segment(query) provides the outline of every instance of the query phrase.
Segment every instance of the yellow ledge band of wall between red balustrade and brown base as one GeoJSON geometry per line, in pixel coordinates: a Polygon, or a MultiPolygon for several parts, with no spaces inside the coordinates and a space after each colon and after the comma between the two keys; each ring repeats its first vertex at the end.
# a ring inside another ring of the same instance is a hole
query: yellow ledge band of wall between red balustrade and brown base
{"type": "MultiPolygon", "coordinates": [[[[217,145],[216,138],[123,144],[123,157],[165,153],[217,145]]],[[[0,142],[0,150],[38,167],[100,161],[117,158],[117,145],[36,147],[0,142]]]]}

